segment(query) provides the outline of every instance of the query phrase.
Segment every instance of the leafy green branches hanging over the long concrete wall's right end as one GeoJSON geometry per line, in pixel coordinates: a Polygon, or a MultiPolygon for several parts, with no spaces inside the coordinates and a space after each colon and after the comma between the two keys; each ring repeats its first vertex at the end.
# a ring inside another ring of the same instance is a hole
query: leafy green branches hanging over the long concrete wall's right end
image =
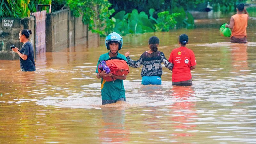
{"type": "Polygon", "coordinates": [[[112,32],[114,19],[110,19],[110,16],[115,10],[108,10],[111,4],[107,0],[68,0],[66,5],[72,11],[73,16],[82,15],[83,23],[88,24],[92,32],[100,36],[106,36],[112,32]]]}

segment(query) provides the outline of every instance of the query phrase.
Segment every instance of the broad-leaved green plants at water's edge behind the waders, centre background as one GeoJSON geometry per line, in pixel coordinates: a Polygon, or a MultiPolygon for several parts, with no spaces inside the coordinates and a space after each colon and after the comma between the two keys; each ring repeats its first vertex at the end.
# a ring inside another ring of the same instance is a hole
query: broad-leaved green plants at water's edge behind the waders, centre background
{"type": "MultiPolygon", "coordinates": [[[[184,9],[181,9],[184,11],[184,9]]],[[[169,31],[175,28],[177,24],[176,18],[180,18],[182,26],[189,28],[190,24],[194,25],[194,19],[192,15],[185,11],[182,13],[184,17],[180,17],[181,13],[171,13],[169,11],[160,12],[157,14],[158,18],[153,17],[155,10],[149,10],[149,17],[145,12],[138,13],[138,10],[134,9],[131,13],[125,14],[125,11],[120,11],[114,16],[115,27],[114,31],[121,35],[137,34],[154,31],[169,31]],[[187,16],[187,17],[185,17],[187,16]]]]}

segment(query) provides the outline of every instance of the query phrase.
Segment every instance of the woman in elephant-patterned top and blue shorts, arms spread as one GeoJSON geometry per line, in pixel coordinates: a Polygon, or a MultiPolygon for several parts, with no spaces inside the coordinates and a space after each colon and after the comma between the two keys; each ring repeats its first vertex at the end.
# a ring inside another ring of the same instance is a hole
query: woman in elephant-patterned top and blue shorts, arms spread
{"type": "Polygon", "coordinates": [[[162,75],[162,66],[161,63],[163,62],[165,67],[172,70],[173,64],[168,62],[165,58],[164,53],[157,51],[157,46],[159,45],[159,39],[156,36],[152,36],[148,40],[149,50],[144,52],[140,59],[137,61],[132,60],[130,56],[130,52],[126,52],[125,56],[127,58],[127,63],[129,66],[133,68],[138,68],[141,65],[141,77],[143,85],[148,84],[162,84],[161,75],[162,75]]]}

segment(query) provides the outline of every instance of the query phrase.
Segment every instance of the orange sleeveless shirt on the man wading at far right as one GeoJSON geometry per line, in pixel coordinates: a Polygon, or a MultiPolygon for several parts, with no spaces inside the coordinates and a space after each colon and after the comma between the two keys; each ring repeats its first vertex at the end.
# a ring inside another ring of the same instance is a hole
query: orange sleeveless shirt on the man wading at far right
{"type": "Polygon", "coordinates": [[[246,27],[248,21],[248,14],[235,14],[232,16],[234,19],[234,26],[232,29],[231,36],[236,38],[243,38],[244,36],[247,37],[246,34],[246,27]]]}

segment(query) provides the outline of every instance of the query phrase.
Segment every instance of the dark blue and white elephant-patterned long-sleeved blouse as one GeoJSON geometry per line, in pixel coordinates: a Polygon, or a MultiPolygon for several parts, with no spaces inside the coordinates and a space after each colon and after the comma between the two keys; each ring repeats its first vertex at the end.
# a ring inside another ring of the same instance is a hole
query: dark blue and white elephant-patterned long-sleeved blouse
{"type": "Polygon", "coordinates": [[[162,66],[161,63],[164,63],[164,66],[170,70],[173,68],[173,64],[168,62],[165,58],[164,53],[160,51],[156,51],[153,53],[144,52],[140,59],[137,61],[132,60],[129,56],[127,58],[127,63],[133,67],[138,68],[141,65],[141,76],[162,76],[162,66]]]}

